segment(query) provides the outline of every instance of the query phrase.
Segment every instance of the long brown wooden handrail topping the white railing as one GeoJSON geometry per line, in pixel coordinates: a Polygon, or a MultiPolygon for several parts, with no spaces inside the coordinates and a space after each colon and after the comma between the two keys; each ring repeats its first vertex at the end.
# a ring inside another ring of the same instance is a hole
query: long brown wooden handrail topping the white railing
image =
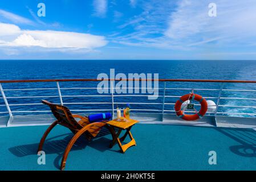
{"type": "Polygon", "coordinates": [[[199,79],[40,79],[40,80],[0,80],[0,83],[14,82],[64,82],[64,81],[167,81],[167,82],[237,82],[237,83],[256,83],[255,80],[199,80],[199,79]]]}

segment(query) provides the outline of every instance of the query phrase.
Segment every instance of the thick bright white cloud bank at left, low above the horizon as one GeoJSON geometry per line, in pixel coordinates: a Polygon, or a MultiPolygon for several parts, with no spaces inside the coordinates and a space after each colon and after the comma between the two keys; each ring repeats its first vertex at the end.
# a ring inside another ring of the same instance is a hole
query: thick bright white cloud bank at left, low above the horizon
{"type": "Polygon", "coordinates": [[[64,31],[21,30],[14,24],[0,23],[0,46],[59,49],[93,49],[107,44],[104,36],[64,31]]]}

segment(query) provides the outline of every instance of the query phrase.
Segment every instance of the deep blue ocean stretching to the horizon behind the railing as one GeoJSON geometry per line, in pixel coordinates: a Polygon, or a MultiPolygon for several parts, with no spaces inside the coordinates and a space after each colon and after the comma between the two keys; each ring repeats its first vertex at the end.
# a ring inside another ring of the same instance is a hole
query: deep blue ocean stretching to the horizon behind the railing
{"type": "MultiPolygon", "coordinates": [[[[124,73],[159,73],[159,78],[184,78],[184,79],[221,79],[221,80],[256,80],[256,61],[214,61],[214,60],[1,60],[0,80],[31,80],[31,79],[71,79],[71,78],[97,78],[100,73],[109,75],[110,69],[115,69],[115,74],[124,73]]],[[[95,88],[98,82],[60,82],[60,88],[95,88]]],[[[182,96],[191,92],[189,89],[220,89],[221,83],[206,82],[166,82],[166,88],[188,88],[188,90],[166,90],[166,96],[182,96]]],[[[2,84],[14,115],[28,114],[19,111],[48,110],[44,105],[19,105],[39,104],[40,100],[49,100],[60,103],[56,82],[32,83],[6,83],[2,84]],[[26,90],[27,88],[54,88],[52,90],[26,90]],[[11,90],[25,89],[25,90],[11,90]],[[30,96],[40,96],[27,98],[30,96]],[[42,97],[41,97],[42,96],[42,97]],[[56,97],[47,97],[56,96],[56,97]],[[18,98],[17,98],[18,97],[18,98]]],[[[159,83],[164,87],[164,82],[159,83]]],[[[256,84],[225,84],[224,89],[256,90],[256,84]]],[[[111,104],[73,104],[74,102],[111,102],[111,97],[86,97],[96,95],[96,89],[62,89],[63,102],[71,110],[86,109],[112,109],[111,104]],[[75,96],[84,97],[75,97],[75,96]]],[[[218,97],[218,90],[196,90],[195,93],[203,97],[218,97]]],[[[163,90],[159,90],[162,96],[163,90]]],[[[108,94],[106,94],[108,95],[108,94]]],[[[109,94],[110,95],[110,94],[109,94]]],[[[5,103],[0,96],[0,112],[6,112],[5,103]]],[[[254,98],[254,100],[221,100],[221,105],[230,106],[256,106],[256,92],[222,92],[222,97],[254,98]]],[[[177,98],[165,98],[166,103],[175,103],[177,98]]],[[[216,98],[211,99],[217,102],[216,98]]],[[[115,97],[117,103],[131,103],[132,109],[162,109],[162,97],[157,100],[148,100],[147,97],[115,97]],[[151,104],[136,104],[159,103],[151,104]],[[135,103],[135,104],[132,104],[135,103]]],[[[118,104],[115,104],[115,107],[118,104]]],[[[125,104],[119,104],[124,107],[125,104]]],[[[173,110],[173,105],[164,107],[166,112],[173,110]]],[[[255,113],[256,107],[220,107],[219,111],[234,113],[255,113]]],[[[76,111],[74,111],[75,113],[76,111]]],[[[81,112],[80,112],[81,113],[81,112]]],[[[172,113],[170,111],[170,113],[172,113]]],[[[29,113],[31,114],[31,113],[29,113]]],[[[38,113],[33,113],[38,114],[38,113]]],[[[42,114],[42,113],[39,113],[42,114]]],[[[44,114],[44,113],[43,113],[44,114]]],[[[2,113],[1,115],[6,115],[2,113]]]]}

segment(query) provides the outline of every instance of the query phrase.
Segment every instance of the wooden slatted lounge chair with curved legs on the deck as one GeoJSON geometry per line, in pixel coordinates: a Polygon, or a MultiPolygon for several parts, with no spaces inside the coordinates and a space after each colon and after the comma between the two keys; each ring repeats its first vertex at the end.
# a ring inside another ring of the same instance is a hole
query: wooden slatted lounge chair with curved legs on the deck
{"type": "Polygon", "coordinates": [[[96,135],[99,134],[100,129],[105,126],[109,129],[113,137],[115,131],[112,131],[113,129],[106,125],[107,121],[90,123],[87,117],[71,114],[71,111],[66,106],[52,104],[51,102],[48,102],[46,100],[42,100],[42,103],[50,107],[52,114],[54,114],[56,118],[56,121],[52,123],[51,126],[48,127],[48,129],[43,134],[43,137],[39,143],[38,152],[42,151],[44,140],[46,139],[50,131],[54,128],[54,126],[58,124],[62,125],[70,129],[72,133],[74,133],[74,137],[68,143],[62,157],[62,163],[60,165],[60,169],[62,170],[64,170],[66,166],[67,156],[71,150],[71,147],[81,135],[84,135],[84,137],[86,137],[88,140],[91,140],[92,138],[96,137],[96,135]],[[75,118],[80,118],[80,121],[77,122],[75,118]]]}

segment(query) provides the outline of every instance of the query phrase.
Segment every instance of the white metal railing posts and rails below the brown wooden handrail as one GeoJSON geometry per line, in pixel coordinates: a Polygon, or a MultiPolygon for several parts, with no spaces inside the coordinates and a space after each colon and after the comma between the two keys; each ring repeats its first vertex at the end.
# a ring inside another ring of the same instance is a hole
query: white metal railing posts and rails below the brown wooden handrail
{"type": "MultiPolygon", "coordinates": [[[[83,105],[83,104],[109,104],[112,105],[112,109],[75,109],[71,111],[112,111],[112,114],[115,114],[115,104],[125,104],[125,102],[115,102],[116,97],[153,97],[152,95],[148,94],[115,94],[113,92],[113,81],[111,81],[111,87],[108,88],[111,90],[110,94],[108,95],[63,95],[62,90],[83,90],[83,89],[97,89],[95,87],[74,87],[74,88],[60,88],[59,81],[56,82],[56,88],[22,88],[22,89],[3,89],[1,83],[0,83],[0,90],[2,94],[2,98],[4,101],[4,105],[1,106],[6,106],[7,111],[1,111],[0,114],[7,114],[9,113],[10,119],[9,122],[12,121],[13,119],[13,113],[47,113],[50,112],[50,110],[38,110],[38,111],[30,111],[30,110],[11,110],[10,106],[29,106],[29,105],[42,105],[40,103],[24,103],[24,104],[9,104],[7,101],[8,99],[15,98],[59,98],[59,104],[61,105],[83,105]],[[10,92],[10,91],[24,91],[24,90],[57,90],[58,95],[56,96],[10,96],[6,97],[5,92],[10,92]],[[111,97],[111,100],[109,102],[63,102],[63,98],[65,97],[111,97]]],[[[129,89],[129,88],[127,88],[129,89]]],[[[142,88],[133,88],[133,89],[142,89],[142,88]]],[[[196,92],[198,90],[205,90],[205,91],[218,91],[218,96],[217,97],[204,97],[206,99],[217,99],[217,104],[216,104],[216,110],[214,112],[208,112],[208,114],[213,114],[214,117],[217,117],[217,115],[220,114],[239,114],[239,115],[248,115],[248,116],[253,116],[255,117],[256,115],[256,110],[255,113],[247,113],[247,112],[226,112],[226,111],[219,111],[220,107],[232,107],[232,108],[251,108],[251,109],[256,109],[256,104],[255,106],[252,105],[221,105],[220,102],[221,100],[251,100],[251,101],[256,101],[255,98],[239,98],[239,97],[222,97],[222,92],[256,92],[256,90],[250,90],[250,89],[224,89],[224,82],[221,83],[221,87],[219,89],[206,89],[206,88],[166,88],[166,81],[164,82],[164,88],[158,88],[159,90],[163,90],[163,94],[159,96],[162,98],[162,102],[131,102],[131,105],[162,105],[161,109],[132,109],[134,111],[157,111],[160,112],[162,115],[166,113],[175,113],[175,110],[168,110],[165,109],[165,105],[174,105],[174,102],[166,102],[166,98],[180,98],[181,96],[173,96],[173,95],[168,95],[166,94],[166,90],[190,90],[191,92],[196,92]]],[[[196,104],[196,106],[200,106],[200,104],[196,104]]],[[[187,111],[193,112],[193,111],[187,111]]]]}

